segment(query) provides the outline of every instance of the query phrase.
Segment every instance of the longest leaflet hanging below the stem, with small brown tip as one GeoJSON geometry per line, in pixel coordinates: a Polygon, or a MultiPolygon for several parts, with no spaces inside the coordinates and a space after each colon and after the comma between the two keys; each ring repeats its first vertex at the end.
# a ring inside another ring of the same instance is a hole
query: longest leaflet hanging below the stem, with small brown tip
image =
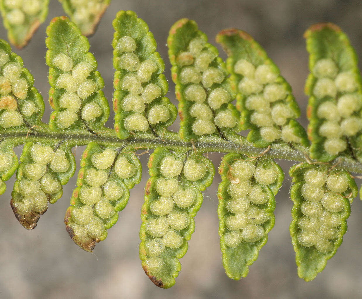
{"type": "Polygon", "coordinates": [[[193,217],[215,174],[211,161],[185,152],[156,148],[148,163],[140,230],[140,258],[146,274],[161,287],[171,287],[181,270],[179,258],[194,232],[193,217]]]}

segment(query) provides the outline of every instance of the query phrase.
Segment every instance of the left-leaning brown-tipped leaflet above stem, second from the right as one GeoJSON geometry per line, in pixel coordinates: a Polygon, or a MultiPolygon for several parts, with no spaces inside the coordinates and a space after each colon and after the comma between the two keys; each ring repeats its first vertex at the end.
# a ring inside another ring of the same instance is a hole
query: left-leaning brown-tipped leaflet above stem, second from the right
{"type": "Polygon", "coordinates": [[[303,127],[295,121],[300,110],[290,85],[265,50],[242,30],[220,31],[216,41],[229,56],[226,62],[237,93],[240,125],[250,129],[247,139],[255,147],[280,142],[308,146],[303,127]]]}

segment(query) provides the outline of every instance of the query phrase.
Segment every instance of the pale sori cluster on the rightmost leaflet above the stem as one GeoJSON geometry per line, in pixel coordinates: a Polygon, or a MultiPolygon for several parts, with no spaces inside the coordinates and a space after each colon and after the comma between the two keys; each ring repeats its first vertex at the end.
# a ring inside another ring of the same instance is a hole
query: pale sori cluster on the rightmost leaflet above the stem
{"type": "Polygon", "coordinates": [[[331,156],[347,148],[346,137],[351,138],[362,130],[360,110],[362,108],[361,85],[357,70],[338,70],[331,58],[319,59],[313,67],[317,78],[313,95],[318,105],[316,114],[318,133],[323,138],[324,150],[331,156]]]}

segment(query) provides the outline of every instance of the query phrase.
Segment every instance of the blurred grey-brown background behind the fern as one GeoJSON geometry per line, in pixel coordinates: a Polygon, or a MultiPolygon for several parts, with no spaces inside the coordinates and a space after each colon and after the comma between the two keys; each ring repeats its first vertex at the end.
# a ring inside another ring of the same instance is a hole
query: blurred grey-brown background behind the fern
{"type": "MultiPolygon", "coordinates": [[[[354,1],[267,1],[267,0],[113,0],[96,33],[90,37],[90,51],[98,60],[98,70],[105,79],[104,92],[111,101],[113,93],[111,21],[118,10],[134,10],[149,25],[158,42],[158,51],[166,60],[165,74],[170,83],[169,97],[177,105],[167,60],[167,36],[171,25],[180,18],[191,18],[206,32],[210,42],[219,30],[235,27],[250,33],[265,47],[271,59],[291,84],[301,107],[301,122],[306,121],[307,97],[303,93],[308,74],[308,56],[303,32],[313,23],[330,21],[348,34],[358,56],[362,57],[362,2],[354,1]]],[[[35,86],[47,105],[48,67],[45,65],[45,29],[51,18],[63,15],[61,5],[50,0],[49,15],[29,45],[15,50],[24,59],[35,78],[35,86]]],[[[0,37],[7,39],[3,25],[0,37]]],[[[218,46],[220,49],[220,47],[218,46]]],[[[222,57],[226,56],[220,49],[222,57]]],[[[113,126],[111,115],[108,126],[113,126]]],[[[173,126],[177,129],[176,126],[173,126]]],[[[77,163],[84,147],[76,149],[77,163]]],[[[21,148],[17,148],[21,154],[21,148]]],[[[209,156],[216,167],[221,155],[209,156]]],[[[148,155],[140,157],[146,165],[148,155]]],[[[293,165],[281,161],[287,172],[293,165]]],[[[14,177],[0,200],[0,298],[361,298],[362,297],[362,204],[356,199],[348,219],[344,242],[326,269],[312,282],[296,274],[295,254],[289,235],[292,202],[290,178],[276,197],[275,227],[260,257],[250,266],[247,278],[232,281],[224,273],[218,237],[218,200],[216,189],[220,177],[205,192],[201,210],[195,217],[196,229],[189,241],[188,253],[181,259],[182,270],[176,285],[168,290],[154,286],[144,274],[138,257],[140,208],[148,178],[144,167],[142,182],[131,190],[127,207],[120,212],[118,223],[109,230],[105,241],[94,253],[78,248],[64,227],[64,213],[69,206],[76,175],[64,187],[64,195],[41,217],[38,226],[25,230],[10,208],[14,177]]],[[[361,180],[357,181],[358,186],[361,180]]]]}

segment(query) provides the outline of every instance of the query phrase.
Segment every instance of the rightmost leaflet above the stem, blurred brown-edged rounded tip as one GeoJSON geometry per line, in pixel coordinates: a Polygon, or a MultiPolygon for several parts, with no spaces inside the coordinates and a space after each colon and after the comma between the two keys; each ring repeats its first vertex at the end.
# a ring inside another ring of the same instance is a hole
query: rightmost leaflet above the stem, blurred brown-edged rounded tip
{"type": "Polygon", "coordinates": [[[362,81],[348,37],[332,23],[320,23],[304,34],[310,54],[305,86],[311,157],[331,161],[339,155],[361,161],[362,81]]]}

